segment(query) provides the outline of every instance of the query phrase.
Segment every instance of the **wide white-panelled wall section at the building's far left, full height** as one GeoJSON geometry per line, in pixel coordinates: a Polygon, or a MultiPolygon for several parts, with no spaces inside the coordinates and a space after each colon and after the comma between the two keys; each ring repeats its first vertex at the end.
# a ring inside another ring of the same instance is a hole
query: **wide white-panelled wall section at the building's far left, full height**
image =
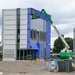
{"type": "Polygon", "coordinates": [[[3,10],[3,61],[16,58],[16,9],[3,10]]]}

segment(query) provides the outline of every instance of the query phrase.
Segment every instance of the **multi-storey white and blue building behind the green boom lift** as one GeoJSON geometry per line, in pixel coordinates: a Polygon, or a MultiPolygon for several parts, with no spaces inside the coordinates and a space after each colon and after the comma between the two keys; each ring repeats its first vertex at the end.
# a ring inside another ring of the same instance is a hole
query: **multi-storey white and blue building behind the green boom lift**
{"type": "MultiPolygon", "coordinates": [[[[3,9],[3,61],[50,59],[51,24],[46,15],[33,8],[3,9]]],[[[51,15],[49,15],[51,17],[51,15]]]]}

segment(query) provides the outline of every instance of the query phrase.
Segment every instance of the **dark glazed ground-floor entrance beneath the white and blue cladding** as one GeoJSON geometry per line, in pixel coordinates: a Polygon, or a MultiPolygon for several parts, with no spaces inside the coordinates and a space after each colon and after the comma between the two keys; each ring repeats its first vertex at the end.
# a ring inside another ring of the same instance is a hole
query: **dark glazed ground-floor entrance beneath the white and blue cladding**
{"type": "Polygon", "coordinates": [[[35,50],[17,50],[17,60],[35,60],[35,50]]]}

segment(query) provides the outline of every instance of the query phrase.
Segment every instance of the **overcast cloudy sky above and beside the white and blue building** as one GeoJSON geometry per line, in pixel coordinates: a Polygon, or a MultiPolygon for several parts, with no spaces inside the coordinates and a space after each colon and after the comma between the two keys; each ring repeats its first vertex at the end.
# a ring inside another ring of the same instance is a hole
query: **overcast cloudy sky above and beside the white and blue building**
{"type": "MultiPolygon", "coordinates": [[[[54,24],[61,34],[73,37],[73,24],[75,24],[75,0],[0,0],[0,41],[2,26],[2,9],[13,8],[45,9],[51,16],[54,24]]],[[[57,34],[52,28],[51,43],[57,34]]]]}

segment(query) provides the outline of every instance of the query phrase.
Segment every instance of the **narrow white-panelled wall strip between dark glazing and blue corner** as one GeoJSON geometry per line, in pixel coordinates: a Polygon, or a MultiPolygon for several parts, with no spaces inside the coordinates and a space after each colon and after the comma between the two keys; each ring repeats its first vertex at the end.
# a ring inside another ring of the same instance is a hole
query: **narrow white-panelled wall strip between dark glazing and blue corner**
{"type": "Polygon", "coordinates": [[[27,48],[27,9],[20,10],[20,49],[27,48]]]}

